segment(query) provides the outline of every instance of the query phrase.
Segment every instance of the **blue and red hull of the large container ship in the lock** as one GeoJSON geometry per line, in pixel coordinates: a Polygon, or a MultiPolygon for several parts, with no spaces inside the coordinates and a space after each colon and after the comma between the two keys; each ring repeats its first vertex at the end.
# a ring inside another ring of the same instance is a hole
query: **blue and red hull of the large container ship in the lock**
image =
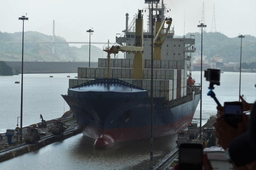
{"type": "MultiPolygon", "coordinates": [[[[75,115],[83,135],[95,149],[108,149],[150,137],[150,98],[95,99],[62,95],[75,115]]],[[[154,97],[154,137],[168,137],[187,128],[200,94],[172,109],[162,109],[163,98],[154,97]]]]}

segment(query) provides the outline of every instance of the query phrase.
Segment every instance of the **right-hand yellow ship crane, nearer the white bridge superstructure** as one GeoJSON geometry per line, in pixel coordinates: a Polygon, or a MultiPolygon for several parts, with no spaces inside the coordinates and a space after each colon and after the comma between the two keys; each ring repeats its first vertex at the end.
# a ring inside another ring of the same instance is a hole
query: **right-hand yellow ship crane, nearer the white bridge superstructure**
{"type": "Polygon", "coordinates": [[[154,52],[153,59],[162,59],[162,45],[164,44],[164,40],[170,30],[172,24],[172,18],[166,18],[163,22],[161,22],[161,18],[159,18],[159,14],[156,17],[156,26],[155,26],[155,38],[154,38],[154,52]],[[164,24],[168,24],[165,28],[164,24]],[[164,33],[162,33],[165,30],[164,33]]]}

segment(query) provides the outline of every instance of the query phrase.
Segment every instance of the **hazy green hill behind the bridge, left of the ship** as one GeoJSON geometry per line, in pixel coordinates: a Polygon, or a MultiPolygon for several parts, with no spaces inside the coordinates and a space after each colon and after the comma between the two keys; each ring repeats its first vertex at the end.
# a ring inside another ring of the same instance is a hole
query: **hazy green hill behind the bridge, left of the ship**
{"type": "MultiPolygon", "coordinates": [[[[24,32],[24,42],[51,42],[52,36],[36,31],[24,32]]],[[[0,60],[21,61],[22,32],[0,32],[0,60]]],[[[66,42],[63,37],[56,36],[55,42],[66,42]]],[[[91,45],[91,61],[98,61],[102,57],[102,49],[91,45]]],[[[52,54],[52,44],[24,43],[24,61],[88,61],[89,45],[81,48],[69,44],[55,44],[55,54],[52,54]]]]}

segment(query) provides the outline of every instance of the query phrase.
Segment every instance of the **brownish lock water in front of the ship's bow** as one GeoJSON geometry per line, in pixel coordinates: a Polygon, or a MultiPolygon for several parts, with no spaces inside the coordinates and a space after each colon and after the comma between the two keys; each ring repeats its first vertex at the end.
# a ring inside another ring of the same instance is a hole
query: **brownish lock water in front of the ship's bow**
{"type": "MultiPolygon", "coordinates": [[[[154,160],[162,159],[175,146],[177,136],[154,141],[154,160]]],[[[149,141],[130,143],[109,150],[94,150],[82,134],[0,163],[1,169],[149,169],[149,141]]]]}

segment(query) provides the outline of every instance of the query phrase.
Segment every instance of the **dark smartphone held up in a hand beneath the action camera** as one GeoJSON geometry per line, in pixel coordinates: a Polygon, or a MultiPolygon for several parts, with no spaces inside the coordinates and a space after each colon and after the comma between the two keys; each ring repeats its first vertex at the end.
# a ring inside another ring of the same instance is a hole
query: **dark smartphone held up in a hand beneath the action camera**
{"type": "Polygon", "coordinates": [[[243,107],[242,103],[225,102],[224,119],[233,128],[238,128],[237,124],[242,122],[243,107]]]}

